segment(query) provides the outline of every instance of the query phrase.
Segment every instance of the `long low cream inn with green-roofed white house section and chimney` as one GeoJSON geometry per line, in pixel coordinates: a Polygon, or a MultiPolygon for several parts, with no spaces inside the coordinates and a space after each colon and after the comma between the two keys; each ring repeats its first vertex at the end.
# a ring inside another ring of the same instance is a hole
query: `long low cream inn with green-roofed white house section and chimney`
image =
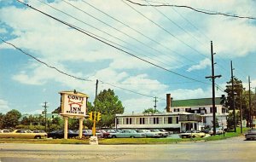
{"type": "MultiPolygon", "coordinates": [[[[224,129],[227,127],[227,108],[216,97],[216,120],[224,129]]],[[[165,129],[175,133],[186,130],[203,130],[212,127],[212,98],[172,101],[166,95],[166,112],[116,114],[116,129],[165,129]]]]}

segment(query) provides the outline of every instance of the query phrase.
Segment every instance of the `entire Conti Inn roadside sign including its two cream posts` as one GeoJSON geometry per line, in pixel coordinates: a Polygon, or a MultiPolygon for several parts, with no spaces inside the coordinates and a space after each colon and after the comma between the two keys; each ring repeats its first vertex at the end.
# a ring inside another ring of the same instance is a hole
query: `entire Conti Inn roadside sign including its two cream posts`
{"type": "Polygon", "coordinates": [[[86,104],[89,95],[73,91],[61,91],[61,116],[64,122],[64,139],[67,139],[68,118],[79,119],[79,138],[82,138],[83,121],[86,116],[86,104]]]}

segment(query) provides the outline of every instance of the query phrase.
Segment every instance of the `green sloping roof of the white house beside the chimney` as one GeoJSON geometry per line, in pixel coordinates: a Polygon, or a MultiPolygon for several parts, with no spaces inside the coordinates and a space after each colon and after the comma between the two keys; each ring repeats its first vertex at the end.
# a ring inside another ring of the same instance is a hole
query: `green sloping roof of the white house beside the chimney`
{"type": "MultiPolygon", "coordinates": [[[[215,97],[215,104],[222,105],[220,97],[215,97]]],[[[212,105],[212,98],[172,101],[172,107],[193,107],[193,106],[206,106],[206,105],[212,105]]]]}

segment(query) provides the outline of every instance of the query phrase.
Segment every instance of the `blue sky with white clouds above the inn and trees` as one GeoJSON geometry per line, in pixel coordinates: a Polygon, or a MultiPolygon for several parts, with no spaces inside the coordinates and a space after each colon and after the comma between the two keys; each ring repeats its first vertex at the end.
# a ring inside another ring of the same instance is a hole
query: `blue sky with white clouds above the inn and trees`
{"type": "Polygon", "coordinates": [[[125,113],[216,96],[234,76],[256,87],[256,2],[185,0],[0,0],[0,113],[48,112],[60,91],[114,90],[125,113]],[[28,4],[29,6],[25,5],[28,4]],[[188,6],[152,7],[150,4],[188,6]],[[4,42],[5,41],[5,42],[4,42]],[[218,88],[217,88],[218,87],[218,88]]]}

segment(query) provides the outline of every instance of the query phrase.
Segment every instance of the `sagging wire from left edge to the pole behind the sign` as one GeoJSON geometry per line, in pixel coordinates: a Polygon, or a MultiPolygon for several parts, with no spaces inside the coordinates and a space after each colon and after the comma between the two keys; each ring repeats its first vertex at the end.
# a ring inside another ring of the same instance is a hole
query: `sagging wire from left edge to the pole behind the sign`
{"type": "Polygon", "coordinates": [[[58,69],[57,67],[50,66],[48,63],[46,63],[46,62],[44,62],[44,61],[41,61],[41,60],[39,60],[38,58],[36,58],[35,56],[30,55],[30,54],[26,53],[24,50],[22,50],[22,49],[16,47],[13,43],[6,42],[6,41],[3,40],[2,38],[0,38],[0,39],[3,41],[3,43],[8,43],[9,45],[13,46],[15,49],[20,50],[20,52],[22,52],[23,54],[28,55],[29,57],[31,57],[31,58],[34,59],[35,61],[38,61],[38,62],[41,63],[41,64],[44,64],[44,66],[46,66],[46,67],[55,69],[55,71],[60,72],[60,73],[62,73],[62,74],[64,74],[64,75],[67,75],[68,77],[71,77],[71,78],[76,78],[76,79],[79,79],[79,80],[92,82],[92,80],[90,80],[90,79],[88,79],[88,78],[79,78],[79,77],[73,76],[73,75],[71,75],[71,74],[69,74],[69,73],[67,73],[67,72],[63,72],[63,71],[61,71],[60,69],[58,69]]]}

